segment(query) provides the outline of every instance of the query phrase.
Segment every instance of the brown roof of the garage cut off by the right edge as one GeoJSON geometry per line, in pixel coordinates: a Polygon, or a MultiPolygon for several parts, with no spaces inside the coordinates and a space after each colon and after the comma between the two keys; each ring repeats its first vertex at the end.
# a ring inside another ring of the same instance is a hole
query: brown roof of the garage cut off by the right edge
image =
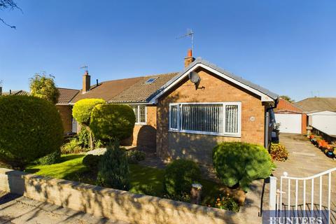
{"type": "Polygon", "coordinates": [[[310,97],[296,102],[294,105],[306,113],[318,111],[336,112],[336,97],[310,97]]]}

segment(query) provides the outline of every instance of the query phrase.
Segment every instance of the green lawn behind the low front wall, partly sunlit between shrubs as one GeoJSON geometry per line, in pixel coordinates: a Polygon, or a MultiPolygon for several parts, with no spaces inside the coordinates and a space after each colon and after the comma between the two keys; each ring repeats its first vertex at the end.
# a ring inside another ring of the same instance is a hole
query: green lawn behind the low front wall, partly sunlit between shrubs
{"type": "MultiPolygon", "coordinates": [[[[62,155],[61,162],[53,165],[31,165],[25,170],[41,176],[52,176],[57,179],[66,179],[70,181],[78,181],[82,183],[95,183],[95,176],[88,172],[87,168],[82,164],[85,155],[62,155]],[[88,175],[89,174],[89,175],[88,175]]],[[[144,186],[150,186],[149,192],[152,195],[162,197],[163,195],[163,176],[164,169],[155,169],[152,167],[144,167],[141,165],[130,165],[130,183],[132,193],[146,193],[144,186]]],[[[203,186],[202,204],[212,204],[214,199],[219,195],[220,186],[217,183],[202,180],[203,186]]]]}

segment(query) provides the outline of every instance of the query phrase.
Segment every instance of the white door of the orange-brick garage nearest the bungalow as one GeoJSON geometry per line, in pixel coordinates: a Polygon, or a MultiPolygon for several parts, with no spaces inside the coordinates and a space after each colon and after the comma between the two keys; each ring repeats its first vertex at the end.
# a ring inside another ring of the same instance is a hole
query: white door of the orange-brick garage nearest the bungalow
{"type": "Polygon", "coordinates": [[[280,132],[301,134],[301,114],[275,113],[275,122],[280,123],[280,132]]]}

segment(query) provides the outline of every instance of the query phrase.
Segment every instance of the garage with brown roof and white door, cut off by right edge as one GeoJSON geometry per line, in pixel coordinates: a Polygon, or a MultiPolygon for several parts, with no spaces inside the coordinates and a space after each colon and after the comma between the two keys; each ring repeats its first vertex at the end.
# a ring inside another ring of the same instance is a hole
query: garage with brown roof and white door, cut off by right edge
{"type": "Polygon", "coordinates": [[[307,124],[319,132],[336,137],[336,97],[310,97],[295,103],[307,113],[307,124]]]}

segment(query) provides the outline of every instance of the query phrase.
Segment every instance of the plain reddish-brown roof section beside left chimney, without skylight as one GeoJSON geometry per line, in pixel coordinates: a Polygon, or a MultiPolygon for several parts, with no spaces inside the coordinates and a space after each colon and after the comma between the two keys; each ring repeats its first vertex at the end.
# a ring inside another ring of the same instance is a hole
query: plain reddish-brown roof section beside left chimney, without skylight
{"type": "Polygon", "coordinates": [[[120,92],[123,92],[131,85],[134,85],[139,80],[141,80],[142,77],[137,78],[124,78],[124,79],[118,79],[118,80],[109,80],[102,83],[99,83],[97,85],[92,85],[89,92],[82,93],[82,90],[71,100],[71,103],[76,103],[80,99],[92,99],[92,98],[98,98],[98,99],[104,99],[106,101],[109,101],[113,97],[116,97],[116,95],[120,94],[120,92]]]}

